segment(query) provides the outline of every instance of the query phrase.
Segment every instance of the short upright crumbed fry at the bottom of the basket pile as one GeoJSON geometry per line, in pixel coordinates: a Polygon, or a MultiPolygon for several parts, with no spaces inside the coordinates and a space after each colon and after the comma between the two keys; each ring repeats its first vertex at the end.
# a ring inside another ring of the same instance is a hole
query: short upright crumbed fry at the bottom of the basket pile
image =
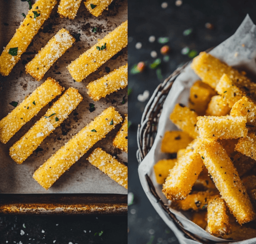
{"type": "Polygon", "coordinates": [[[230,233],[230,222],[225,201],[219,196],[211,199],[207,208],[208,231],[220,236],[230,233]]]}

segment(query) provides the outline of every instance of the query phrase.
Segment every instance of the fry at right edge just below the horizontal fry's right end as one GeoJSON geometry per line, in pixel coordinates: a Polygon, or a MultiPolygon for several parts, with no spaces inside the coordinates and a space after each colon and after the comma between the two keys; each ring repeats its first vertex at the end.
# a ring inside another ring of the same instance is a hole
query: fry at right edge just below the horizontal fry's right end
{"type": "Polygon", "coordinates": [[[247,137],[240,138],[235,150],[256,160],[256,135],[248,133],[247,137]]]}

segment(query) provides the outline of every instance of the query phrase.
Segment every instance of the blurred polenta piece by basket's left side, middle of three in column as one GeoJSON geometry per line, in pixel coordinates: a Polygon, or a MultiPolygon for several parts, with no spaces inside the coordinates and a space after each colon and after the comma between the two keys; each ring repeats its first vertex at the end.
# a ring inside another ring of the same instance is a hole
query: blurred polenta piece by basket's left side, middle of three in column
{"type": "Polygon", "coordinates": [[[161,151],[164,153],[176,153],[188,146],[193,138],[184,131],[166,131],[161,144],[161,151]]]}

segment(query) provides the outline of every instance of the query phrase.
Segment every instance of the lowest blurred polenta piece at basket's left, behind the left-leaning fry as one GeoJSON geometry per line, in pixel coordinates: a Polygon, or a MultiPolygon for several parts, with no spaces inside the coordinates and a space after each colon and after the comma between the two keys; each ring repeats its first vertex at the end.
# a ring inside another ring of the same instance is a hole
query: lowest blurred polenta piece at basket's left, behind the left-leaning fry
{"type": "Polygon", "coordinates": [[[169,170],[174,167],[176,162],[177,159],[161,159],[154,165],[157,184],[162,185],[164,183],[169,175],[169,170]]]}

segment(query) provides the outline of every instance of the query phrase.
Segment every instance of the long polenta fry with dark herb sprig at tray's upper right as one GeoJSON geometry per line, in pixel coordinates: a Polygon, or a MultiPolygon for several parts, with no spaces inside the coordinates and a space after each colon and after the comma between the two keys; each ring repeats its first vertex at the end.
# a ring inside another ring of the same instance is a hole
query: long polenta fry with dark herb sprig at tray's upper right
{"type": "Polygon", "coordinates": [[[128,43],[128,20],[108,33],[98,43],[81,54],[68,66],[72,78],[78,82],[96,71],[101,65],[118,53],[128,43]],[[100,49],[100,50],[98,50],[100,49]],[[102,50],[101,50],[102,49],[102,50]]]}

